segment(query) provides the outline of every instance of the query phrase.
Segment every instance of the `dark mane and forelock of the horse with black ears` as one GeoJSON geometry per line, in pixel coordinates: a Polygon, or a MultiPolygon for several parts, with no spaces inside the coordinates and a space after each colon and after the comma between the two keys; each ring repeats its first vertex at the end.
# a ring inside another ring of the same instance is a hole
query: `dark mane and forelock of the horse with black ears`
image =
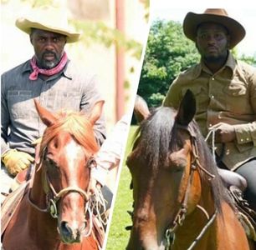
{"type": "MultiPolygon", "coordinates": [[[[151,116],[141,122],[136,131],[134,142],[134,153],[140,155],[154,169],[168,164],[168,155],[170,151],[177,151],[182,147],[182,138],[178,136],[178,126],[175,120],[177,112],[172,107],[158,107],[151,116]]],[[[224,188],[221,178],[218,175],[218,169],[213,161],[212,154],[205,143],[197,123],[193,120],[188,126],[188,131],[196,135],[198,155],[201,165],[209,173],[215,175],[210,182],[208,176],[202,173],[202,181],[210,186],[212,198],[218,213],[222,214],[222,201],[228,202],[233,208],[233,202],[228,197],[226,188],[224,188]]]]}

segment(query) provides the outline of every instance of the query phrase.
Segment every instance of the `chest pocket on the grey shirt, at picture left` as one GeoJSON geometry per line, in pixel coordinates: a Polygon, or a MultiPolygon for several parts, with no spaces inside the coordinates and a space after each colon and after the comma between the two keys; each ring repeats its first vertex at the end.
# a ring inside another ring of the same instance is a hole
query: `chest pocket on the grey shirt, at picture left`
{"type": "Polygon", "coordinates": [[[30,117],[30,110],[34,107],[32,92],[29,90],[8,90],[8,107],[10,116],[14,118],[30,117]]]}

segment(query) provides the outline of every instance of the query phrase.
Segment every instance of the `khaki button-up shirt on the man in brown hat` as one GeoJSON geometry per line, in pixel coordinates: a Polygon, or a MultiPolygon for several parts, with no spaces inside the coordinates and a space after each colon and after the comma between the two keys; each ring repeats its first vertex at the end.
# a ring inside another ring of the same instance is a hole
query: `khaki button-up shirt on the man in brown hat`
{"type": "MultiPolygon", "coordinates": [[[[196,97],[195,119],[204,137],[218,122],[235,128],[236,141],[226,143],[223,163],[235,170],[248,159],[255,158],[256,68],[235,60],[231,53],[226,64],[214,74],[200,62],[177,77],[163,105],[177,108],[187,89],[196,97]]],[[[216,146],[219,154],[221,144],[216,146]]]]}

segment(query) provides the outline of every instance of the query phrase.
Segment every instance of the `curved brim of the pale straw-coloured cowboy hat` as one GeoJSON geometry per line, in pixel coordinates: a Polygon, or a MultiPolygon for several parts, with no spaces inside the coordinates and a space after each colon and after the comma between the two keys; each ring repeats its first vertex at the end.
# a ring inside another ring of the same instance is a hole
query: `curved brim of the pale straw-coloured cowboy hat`
{"type": "Polygon", "coordinates": [[[81,33],[79,33],[79,32],[69,32],[65,29],[44,26],[41,23],[31,22],[30,20],[28,20],[26,18],[19,18],[15,24],[20,30],[22,30],[23,32],[26,32],[28,34],[31,33],[31,28],[38,28],[38,29],[49,31],[49,32],[55,32],[55,33],[62,34],[67,37],[67,42],[69,42],[69,43],[77,42],[77,41],[79,41],[79,39],[81,37],[81,33]]]}

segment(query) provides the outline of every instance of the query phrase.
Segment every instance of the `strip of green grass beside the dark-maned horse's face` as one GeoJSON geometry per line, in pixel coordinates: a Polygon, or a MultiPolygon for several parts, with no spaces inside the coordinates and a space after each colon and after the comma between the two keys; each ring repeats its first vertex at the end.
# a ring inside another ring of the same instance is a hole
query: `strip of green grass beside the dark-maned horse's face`
{"type": "Polygon", "coordinates": [[[110,232],[106,250],[122,250],[125,249],[130,231],[126,231],[126,226],[131,226],[131,216],[127,210],[132,210],[132,190],[130,190],[131,174],[125,165],[126,158],[131,152],[131,142],[136,131],[136,126],[131,126],[128,142],[125,148],[125,160],[120,173],[120,181],[115,199],[115,208],[110,224],[110,232]]]}

